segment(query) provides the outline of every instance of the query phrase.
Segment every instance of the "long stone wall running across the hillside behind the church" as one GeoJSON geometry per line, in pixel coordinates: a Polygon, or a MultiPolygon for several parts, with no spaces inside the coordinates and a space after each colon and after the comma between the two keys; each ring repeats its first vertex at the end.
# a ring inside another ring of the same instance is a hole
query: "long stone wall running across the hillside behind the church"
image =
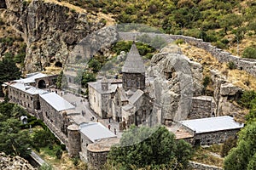
{"type": "Polygon", "coordinates": [[[134,37],[142,36],[147,34],[149,37],[159,36],[163,38],[166,42],[172,42],[173,40],[183,39],[185,42],[190,45],[194,45],[198,48],[203,48],[213,57],[218,59],[220,63],[233,62],[238,69],[247,71],[249,74],[252,74],[256,77],[256,59],[245,59],[238,56],[232,55],[220,48],[212,46],[210,42],[203,42],[202,39],[197,39],[195,37],[185,37],[182,35],[167,35],[159,34],[154,32],[119,32],[119,39],[121,40],[134,40],[134,37]]]}

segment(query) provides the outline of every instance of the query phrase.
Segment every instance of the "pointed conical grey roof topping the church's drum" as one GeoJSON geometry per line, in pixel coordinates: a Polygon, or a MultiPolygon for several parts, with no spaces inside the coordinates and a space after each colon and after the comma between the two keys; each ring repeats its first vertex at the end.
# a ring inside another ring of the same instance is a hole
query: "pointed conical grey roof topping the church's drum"
{"type": "Polygon", "coordinates": [[[125,59],[125,65],[122,68],[122,72],[127,73],[145,73],[145,66],[143,59],[137,51],[136,45],[133,43],[131,49],[125,59]]]}

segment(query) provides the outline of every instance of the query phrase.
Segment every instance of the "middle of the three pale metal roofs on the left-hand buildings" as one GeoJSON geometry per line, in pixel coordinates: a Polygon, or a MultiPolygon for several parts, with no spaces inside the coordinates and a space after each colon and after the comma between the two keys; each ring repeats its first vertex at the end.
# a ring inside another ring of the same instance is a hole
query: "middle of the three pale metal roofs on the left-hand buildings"
{"type": "Polygon", "coordinates": [[[61,98],[61,96],[55,93],[40,94],[40,97],[55,108],[56,111],[65,111],[75,108],[75,106],[71,105],[66,99],[61,98]]]}

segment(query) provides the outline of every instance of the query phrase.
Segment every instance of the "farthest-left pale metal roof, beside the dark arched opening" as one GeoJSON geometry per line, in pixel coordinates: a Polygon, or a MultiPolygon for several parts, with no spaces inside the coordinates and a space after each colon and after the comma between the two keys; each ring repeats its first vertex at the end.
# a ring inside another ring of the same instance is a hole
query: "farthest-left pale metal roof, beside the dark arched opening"
{"type": "Polygon", "coordinates": [[[46,93],[48,93],[45,90],[26,85],[22,82],[15,82],[15,83],[9,84],[9,86],[13,87],[13,88],[17,88],[20,91],[25,92],[27,94],[46,94],[46,93]]]}

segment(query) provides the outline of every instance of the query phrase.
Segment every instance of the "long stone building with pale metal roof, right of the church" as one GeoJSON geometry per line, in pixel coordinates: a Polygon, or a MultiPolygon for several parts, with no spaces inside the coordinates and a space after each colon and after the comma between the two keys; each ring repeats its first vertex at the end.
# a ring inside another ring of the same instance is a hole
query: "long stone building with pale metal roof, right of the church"
{"type": "Polygon", "coordinates": [[[243,123],[235,122],[231,116],[216,116],[178,122],[185,129],[189,142],[195,145],[220,144],[230,137],[235,137],[243,123]]]}

